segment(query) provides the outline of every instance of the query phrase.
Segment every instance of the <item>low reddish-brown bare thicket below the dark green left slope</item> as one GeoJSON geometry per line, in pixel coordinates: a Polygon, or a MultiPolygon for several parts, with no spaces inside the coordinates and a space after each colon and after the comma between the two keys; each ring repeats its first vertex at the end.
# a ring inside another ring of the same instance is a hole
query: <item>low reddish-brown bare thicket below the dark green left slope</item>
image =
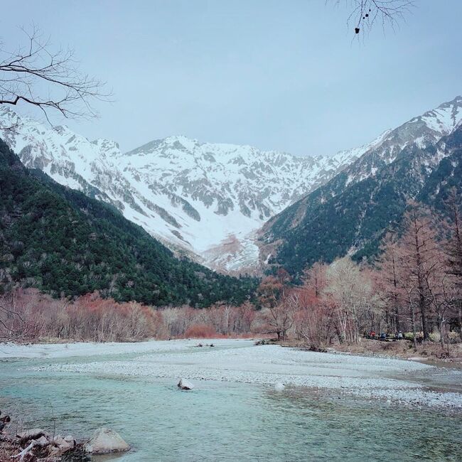
{"type": "Polygon", "coordinates": [[[56,299],[35,288],[0,296],[0,341],[127,342],[156,338],[239,337],[267,331],[252,303],[155,308],[103,298],[98,292],[56,299]]]}

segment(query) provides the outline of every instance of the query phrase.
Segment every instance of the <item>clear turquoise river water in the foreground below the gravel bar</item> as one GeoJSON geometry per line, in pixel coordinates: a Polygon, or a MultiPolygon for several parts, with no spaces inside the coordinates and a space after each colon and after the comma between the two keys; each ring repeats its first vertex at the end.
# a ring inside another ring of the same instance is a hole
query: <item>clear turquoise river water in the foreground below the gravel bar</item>
{"type": "Polygon", "coordinates": [[[98,462],[461,461],[460,414],[303,389],[199,382],[180,392],[174,380],[24,370],[36,362],[0,364],[0,409],[81,439],[109,426],[134,447],[98,462]]]}

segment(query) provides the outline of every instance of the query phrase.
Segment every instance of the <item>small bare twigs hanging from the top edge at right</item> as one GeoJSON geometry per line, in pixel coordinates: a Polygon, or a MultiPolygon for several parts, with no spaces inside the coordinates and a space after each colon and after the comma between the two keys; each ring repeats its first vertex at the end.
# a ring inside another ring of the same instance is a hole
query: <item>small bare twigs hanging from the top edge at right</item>
{"type": "MultiPolygon", "coordinates": [[[[335,0],[340,4],[343,0],[335,0]]],[[[382,28],[390,26],[394,28],[399,21],[404,21],[407,14],[415,6],[414,0],[344,0],[351,9],[348,16],[348,26],[354,24],[355,33],[369,32],[377,23],[382,28]]]]}

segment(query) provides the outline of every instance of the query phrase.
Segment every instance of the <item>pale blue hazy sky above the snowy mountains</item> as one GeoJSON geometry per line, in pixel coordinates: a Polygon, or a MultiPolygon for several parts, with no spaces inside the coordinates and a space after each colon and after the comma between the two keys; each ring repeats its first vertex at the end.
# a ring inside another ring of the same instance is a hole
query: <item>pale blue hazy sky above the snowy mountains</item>
{"type": "Polygon", "coordinates": [[[36,23],[108,82],[99,119],[66,123],[124,151],[184,134],[334,154],[462,93],[460,0],[417,1],[397,31],[362,43],[344,4],[324,0],[18,0],[5,12],[5,48],[36,23]]]}

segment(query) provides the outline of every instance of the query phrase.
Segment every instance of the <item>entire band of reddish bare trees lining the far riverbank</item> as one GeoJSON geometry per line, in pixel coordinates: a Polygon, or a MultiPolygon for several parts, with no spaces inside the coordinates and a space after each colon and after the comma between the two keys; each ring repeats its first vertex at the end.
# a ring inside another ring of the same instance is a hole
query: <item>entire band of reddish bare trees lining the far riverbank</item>
{"type": "MultiPolygon", "coordinates": [[[[53,298],[18,287],[0,297],[0,335],[16,341],[136,341],[146,338],[275,336],[314,350],[345,345],[386,346],[399,340],[416,352],[451,357],[461,343],[462,229],[455,198],[444,227],[410,204],[402,232],[387,235],[380,258],[316,262],[302,284],[279,269],[261,281],[254,302],[217,302],[208,308],[148,306],[103,298],[97,291],[53,298]],[[443,230],[437,234],[436,230],[443,230]]],[[[351,350],[351,347],[348,347],[351,350]]],[[[372,350],[377,348],[371,348],[372,350]]],[[[401,347],[398,350],[402,349],[401,347]]],[[[399,353],[402,354],[402,353],[399,353]]],[[[414,354],[414,353],[413,353],[414,354]]]]}

